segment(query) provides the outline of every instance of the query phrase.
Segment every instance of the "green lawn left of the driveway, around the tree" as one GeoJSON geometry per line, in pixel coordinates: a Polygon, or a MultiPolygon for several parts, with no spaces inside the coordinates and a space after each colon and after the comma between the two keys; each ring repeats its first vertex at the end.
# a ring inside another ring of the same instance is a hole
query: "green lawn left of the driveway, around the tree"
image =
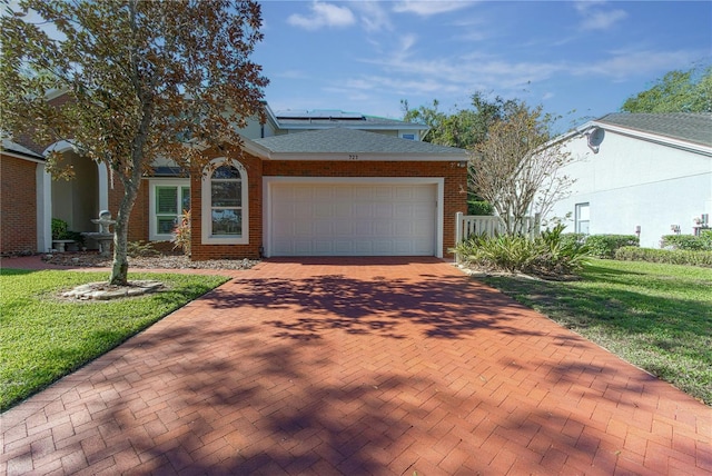
{"type": "Polygon", "coordinates": [[[169,313],[225,282],[219,276],[144,275],[167,290],[110,301],[58,298],[106,274],[0,270],[0,410],[118,346],[169,313]]]}

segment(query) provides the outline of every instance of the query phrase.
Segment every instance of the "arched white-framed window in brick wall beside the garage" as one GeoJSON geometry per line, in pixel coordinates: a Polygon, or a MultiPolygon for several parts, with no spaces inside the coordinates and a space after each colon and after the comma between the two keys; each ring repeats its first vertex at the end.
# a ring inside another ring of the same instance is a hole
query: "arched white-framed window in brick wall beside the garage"
{"type": "Polygon", "coordinates": [[[235,160],[216,159],[202,182],[202,242],[248,242],[247,173],[235,160]]]}

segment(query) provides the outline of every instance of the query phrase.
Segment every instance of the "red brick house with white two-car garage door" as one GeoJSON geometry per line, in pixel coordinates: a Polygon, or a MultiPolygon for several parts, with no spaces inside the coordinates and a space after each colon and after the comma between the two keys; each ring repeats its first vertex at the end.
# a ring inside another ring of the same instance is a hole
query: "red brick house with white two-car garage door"
{"type": "MultiPolygon", "coordinates": [[[[265,110],[265,123],[254,120],[241,131],[241,155],[229,145],[209,150],[212,167],[191,177],[170,162],[155,163],[131,212],[129,240],[172,249],[174,226],[189,208],[196,260],[448,255],[455,214],[466,210],[465,150],[422,141],[422,125],[265,110]]],[[[119,181],[68,143],[42,152],[52,149],[72,163],[77,179],[46,180],[51,217],[76,231],[96,230],[90,219],[118,208],[119,181]]],[[[51,246],[44,240],[37,250],[51,246]]]]}

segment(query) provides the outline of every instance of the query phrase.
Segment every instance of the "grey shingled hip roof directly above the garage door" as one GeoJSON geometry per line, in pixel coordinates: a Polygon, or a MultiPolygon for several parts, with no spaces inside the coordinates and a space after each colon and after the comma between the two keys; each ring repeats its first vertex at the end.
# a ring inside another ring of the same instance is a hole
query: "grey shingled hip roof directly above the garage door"
{"type": "Polygon", "coordinates": [[[465,160],[467,151],[357,129],[332,128],[246,140],[249,151],[268,159],[465,160]],[[256,147],[251,147],[250,143],[256,147]]]}

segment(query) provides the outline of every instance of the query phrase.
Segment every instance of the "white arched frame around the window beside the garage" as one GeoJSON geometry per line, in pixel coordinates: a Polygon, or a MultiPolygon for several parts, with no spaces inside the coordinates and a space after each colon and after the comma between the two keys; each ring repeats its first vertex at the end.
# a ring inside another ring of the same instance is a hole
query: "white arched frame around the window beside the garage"
{"type": "Polygon", "coordinates": [[[247,184],[247,170],[245,167],[235,159],[228,159],[226,157],[218,157],[212,159],[210,163],[205,168],[202,173],[202,190],[200,192],[200,209],[202,211],[201,217],[201,240],[202,245],[248,245],[249,244],[249,194],[247,184]],[[212,197],[211,186],[212,171],[220,166],[233,166],[240,172],[241,181],[241,211],[243,211],[243,235],[240,236],[214,236],[212,235],[212,197]]]}

